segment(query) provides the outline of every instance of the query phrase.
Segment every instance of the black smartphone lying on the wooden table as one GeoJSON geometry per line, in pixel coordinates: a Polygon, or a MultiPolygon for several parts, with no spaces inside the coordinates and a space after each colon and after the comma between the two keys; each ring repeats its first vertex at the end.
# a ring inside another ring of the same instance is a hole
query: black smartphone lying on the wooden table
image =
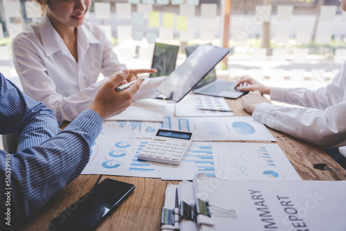
{"type": "Polygon", "coordinates": [[[134,188],[107,178],[55,217],[48,230],[93,230],[134,188]]]}

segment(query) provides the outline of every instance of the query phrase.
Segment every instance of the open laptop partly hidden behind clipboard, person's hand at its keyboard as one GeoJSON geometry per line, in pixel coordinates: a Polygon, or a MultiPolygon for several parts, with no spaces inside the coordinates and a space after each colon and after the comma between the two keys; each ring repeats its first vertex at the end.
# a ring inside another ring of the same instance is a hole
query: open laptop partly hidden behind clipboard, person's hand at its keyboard
{"type": "MultiPolygon", "coordinates": [[[[200,45],[186,47],[186,55],[191,55],[199,46],[200,45]]],[[[212,68],[212,71],[210,71],[210,73],[208,73],[208,75],[206,75],[206,77],[204,77],[203,80],[201,80],[201,82],[199,82],[199,84],[192,89],[192,92],[203,95],[236,99],[241,95],[244,95],[244,92],[236,90],[235,84],[236,82],[217,80],[215,68],[212,68]]]]}

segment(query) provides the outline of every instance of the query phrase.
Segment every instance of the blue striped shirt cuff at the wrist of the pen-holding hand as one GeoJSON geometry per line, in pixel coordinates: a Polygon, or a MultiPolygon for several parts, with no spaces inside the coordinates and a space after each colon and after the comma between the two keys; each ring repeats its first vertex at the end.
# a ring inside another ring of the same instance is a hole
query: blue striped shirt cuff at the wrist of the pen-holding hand
{"type": "Polygon", "coordinates": [[[102,129],[102,119],[93,110],[85,110],[75,118],[64,131],[74,131],[73,127],[80,127],[89,134],[90,142],[94,142],[102,129]]]}

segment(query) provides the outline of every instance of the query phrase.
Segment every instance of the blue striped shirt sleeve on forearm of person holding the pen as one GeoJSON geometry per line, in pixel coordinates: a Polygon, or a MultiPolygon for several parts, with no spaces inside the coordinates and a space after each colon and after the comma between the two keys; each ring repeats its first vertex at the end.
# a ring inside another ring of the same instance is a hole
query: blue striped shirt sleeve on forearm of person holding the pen
{"type": "MultiPolygon", "coordinates": [[[[11,155],[11,210],[14,216],[38,212],[75,179],[89,160],[91,144],[102,126],[94,111],[83,112],[55,138],[11,155]]],[[[1,189],[5,189],[5,153],[1,154],[1,189]]],[[[5,203],[4,194],[0,204],[5,203]]]]}

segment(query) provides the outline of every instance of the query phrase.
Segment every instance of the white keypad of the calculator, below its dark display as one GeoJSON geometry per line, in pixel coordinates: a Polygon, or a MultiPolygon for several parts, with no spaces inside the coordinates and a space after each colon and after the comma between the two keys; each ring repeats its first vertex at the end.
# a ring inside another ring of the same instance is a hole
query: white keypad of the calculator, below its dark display
{"type": "Polygon", "coordinates": [[[152,140],[139,152],[138,160],[179,165],[191,142],[152,140]]]}

